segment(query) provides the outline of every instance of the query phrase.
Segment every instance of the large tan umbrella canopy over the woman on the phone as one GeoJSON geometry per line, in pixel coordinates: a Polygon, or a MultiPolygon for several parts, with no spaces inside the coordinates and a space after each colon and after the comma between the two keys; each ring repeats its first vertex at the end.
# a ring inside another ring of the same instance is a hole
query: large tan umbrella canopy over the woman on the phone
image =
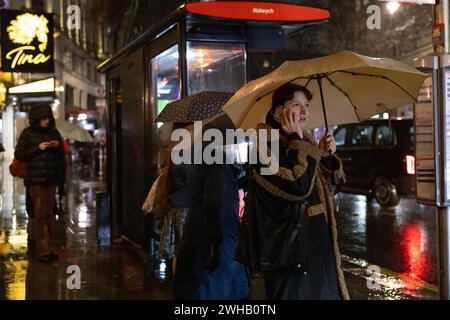
{"type": "Polygon", "coordinates": [[[425,78],[424,73],[393,59],[342,51],[317,59],[283,63],[271,73],[247,83],[223,111],[235,127],[255,128],[265,121],[274,90],[291,82],[306,86],[314,95],[307,129],[361,122],[415,102],[425,78]]]}

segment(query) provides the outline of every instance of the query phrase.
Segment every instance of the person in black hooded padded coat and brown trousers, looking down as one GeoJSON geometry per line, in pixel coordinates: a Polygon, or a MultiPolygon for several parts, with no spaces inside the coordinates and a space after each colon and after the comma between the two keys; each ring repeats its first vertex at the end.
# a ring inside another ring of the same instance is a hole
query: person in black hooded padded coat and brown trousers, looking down
{"type": "Polygon", "coordinates": [[[30,126],[21,133],[14,156],[25,165],[24,184],[35,216],[36,255],[42,262],[51,262],[57,258],[52,221],[58,185],[64,182],[64,145],[49,105],[33,106],[28,120],[30,126]]]}

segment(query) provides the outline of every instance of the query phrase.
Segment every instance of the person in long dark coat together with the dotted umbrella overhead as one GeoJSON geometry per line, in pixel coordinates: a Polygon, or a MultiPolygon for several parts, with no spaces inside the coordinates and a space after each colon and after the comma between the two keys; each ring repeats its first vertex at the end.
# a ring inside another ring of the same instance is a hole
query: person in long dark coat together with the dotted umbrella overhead
{"type": "MultiPolygon", "coordinates": [[[[217,117],[220,120],[221,108],[231,96],[223,92],[194,94],[168,104],[156,121],[179,124],[205,119],[209,122],[217,117]]],[[[192,131],[192,128],[187,129],[192,131]]],[[[195,150],[188,148],[181,152],[195,150]]],[[[217,152],[222,154],[223,150],[217,152]]],[[[168,177],[173,181],[168,185],[181,188],[168,192],[169,209],[163,221],[173,220],[170,207],[178,203],[175,199],[188,199],[186,223],[175,250],[173,289],[176,299],[244,299],[249,295],[250,282],[245,267],[233,258],[239,230],[238,178],[241,173],[239,165],[175,165],[170,162],[168,177]]],[[[167,234],[164,228],[161,234],[167,234]]],[[[160,249],[165,250],[167,239],[171,238],[161,238],[160,249]]]]}

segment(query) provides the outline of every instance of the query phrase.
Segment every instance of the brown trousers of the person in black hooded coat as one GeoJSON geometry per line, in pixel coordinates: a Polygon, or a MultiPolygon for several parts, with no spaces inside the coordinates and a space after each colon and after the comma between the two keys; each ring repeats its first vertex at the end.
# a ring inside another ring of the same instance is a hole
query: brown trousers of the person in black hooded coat
{"type": "Polygon", "coordinates": [[[33,240],[37,257],[55,253],[53,248],[53,208],[56,186],[29,187],[34,209],[33,240]]]}

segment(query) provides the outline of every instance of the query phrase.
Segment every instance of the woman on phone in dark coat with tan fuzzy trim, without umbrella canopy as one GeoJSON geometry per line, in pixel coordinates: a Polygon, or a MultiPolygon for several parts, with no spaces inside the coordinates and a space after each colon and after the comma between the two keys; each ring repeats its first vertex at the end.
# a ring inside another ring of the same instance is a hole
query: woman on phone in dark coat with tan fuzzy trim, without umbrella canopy
{"type": "Polygon", "coordinates": [[[262,164],[251,170],[237,259],[264,272],[268,299],[349,298],[333,209],[344,172],[333,135],[317,146],[305,131],[311,99],[304,86],[282,85],[258,126],[280,130],[279,170],[260,175],[262,164]]]}

